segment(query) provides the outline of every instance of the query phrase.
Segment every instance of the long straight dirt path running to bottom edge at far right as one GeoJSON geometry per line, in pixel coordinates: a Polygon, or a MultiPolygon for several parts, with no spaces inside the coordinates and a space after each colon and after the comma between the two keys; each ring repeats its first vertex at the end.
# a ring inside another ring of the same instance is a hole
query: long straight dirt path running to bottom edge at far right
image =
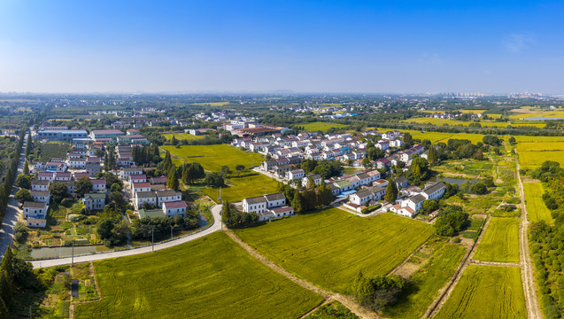
{"type": "MultiPolygon", "coordinates": [[[[515,153],[517,150],[515,149],[515,153]]],[[[529,254],[529,219],[527,213],[527,204],[525,204],[525,191],[523,189],[523,183],[521,179],[521,163],[517,158],[516,169],[517,169],[517,181],[519,182],[519,193],[521,197],[521,231],[519,236],[520,241],[520,255],[522,264],[522,282],[523,291],[525,292],[525,300],[527,304],[527,312],[529,313],[529,318],[541,319],[543,316],[540,311],[537,300],[537,290],[535,288],[535,277],[533,276],[533,265],[530,261],[529,254]]]]}

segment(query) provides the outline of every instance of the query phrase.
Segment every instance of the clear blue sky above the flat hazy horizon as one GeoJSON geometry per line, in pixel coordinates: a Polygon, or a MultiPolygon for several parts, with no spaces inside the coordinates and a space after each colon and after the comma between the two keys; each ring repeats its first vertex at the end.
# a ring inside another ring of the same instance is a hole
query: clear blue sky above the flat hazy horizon
{"type": "Polygon", "coordinates": [[[0,2],[0,91],[564,93],[564,2],[0,2]]]}

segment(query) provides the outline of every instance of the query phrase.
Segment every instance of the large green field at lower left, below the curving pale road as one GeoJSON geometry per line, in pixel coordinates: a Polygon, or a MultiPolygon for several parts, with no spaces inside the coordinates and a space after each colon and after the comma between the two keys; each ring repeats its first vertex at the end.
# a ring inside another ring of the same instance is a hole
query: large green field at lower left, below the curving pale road
{"type": "Polygon", "coordinates": [[[75,318],[298,318],[323,301],[220,232],[95,268],[102,300],[75,318]]]}

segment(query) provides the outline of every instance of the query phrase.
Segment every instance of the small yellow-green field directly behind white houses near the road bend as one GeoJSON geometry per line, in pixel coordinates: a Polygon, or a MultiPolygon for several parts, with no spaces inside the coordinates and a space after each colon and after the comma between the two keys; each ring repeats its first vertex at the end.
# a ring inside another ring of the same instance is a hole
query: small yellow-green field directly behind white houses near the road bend
{"type": "MultiPolygon", "coordinates": [[[[230,202],[264,195],[265,191],[267,191],[267,194],[272,194],[278,191],[278,182],[262,174],[240,178],[230,178],[228,183],[231,184],[229,187],[221,189],[221,199],[224,201],[228,200],[230,202]]],[[[204,189],[204,193],[217,202],[217,189],[206,187],[204,189]]]]}

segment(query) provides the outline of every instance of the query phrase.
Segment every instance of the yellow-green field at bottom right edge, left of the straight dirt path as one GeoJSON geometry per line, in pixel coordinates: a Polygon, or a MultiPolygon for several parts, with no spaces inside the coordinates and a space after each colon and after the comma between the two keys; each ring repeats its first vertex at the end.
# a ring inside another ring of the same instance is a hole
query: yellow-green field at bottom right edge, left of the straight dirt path
{"type": "Polygon", "coordinates": [[[527,318],[521,268],[468,266],[435,318],[527,318]]]}

